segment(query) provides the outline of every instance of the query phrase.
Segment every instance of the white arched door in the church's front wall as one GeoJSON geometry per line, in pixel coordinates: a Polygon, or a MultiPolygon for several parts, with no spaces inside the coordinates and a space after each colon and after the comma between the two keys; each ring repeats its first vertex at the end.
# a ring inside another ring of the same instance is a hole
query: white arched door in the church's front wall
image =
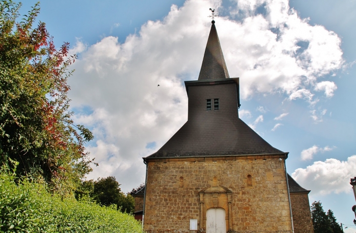
{"type": "Polygon", "coordinates": [[[224,209],[209,209],[206,212],[206,233],[226,233],[224,209]]]}

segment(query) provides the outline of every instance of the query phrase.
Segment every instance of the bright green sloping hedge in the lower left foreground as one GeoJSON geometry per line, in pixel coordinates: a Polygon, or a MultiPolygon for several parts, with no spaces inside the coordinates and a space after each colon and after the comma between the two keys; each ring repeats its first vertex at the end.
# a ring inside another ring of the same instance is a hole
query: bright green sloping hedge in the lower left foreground
{"type": "Polygon", "coordinates": [[[116,206],[50,194],[45,183],[14,181],[0,172],[0,232],[142,233],[141,224],[116,206]]]}

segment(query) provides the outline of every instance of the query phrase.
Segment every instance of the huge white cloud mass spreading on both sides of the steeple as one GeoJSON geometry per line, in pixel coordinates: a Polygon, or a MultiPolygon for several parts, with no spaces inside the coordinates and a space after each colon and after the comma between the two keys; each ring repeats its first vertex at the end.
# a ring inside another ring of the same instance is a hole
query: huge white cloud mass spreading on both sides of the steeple
{"type": "MultiPolygon", "coordinates": [[[[116,176],[122,190],[133,188],[144,180],[141,157],[155,152],[147,143],[159,148],[186,122],[183,81],[198,78],[211,26],[207,5],[218,11],[221,1],[172,5],[165,18],[147,21],[123,43],[114,36],[93,45],[77,41],[69,97],[72,107],[90,109],[76,111],[76,117],[96,137],[87,148],[100,158],[93,174],[116,176]]],[[[287,0],[242,0],[230,10],[231,17],[220,17],[216,26],[230,76],[241,77],[241,98],[279,92],[312,103],[313,91],[333,93],[331,82],[315,83],[343,64],[335,33],[299,18],[287,0]],[[265,14],[255,14],[261,5],[265,14]],[[234,20],[240,13],[242,20],[234,20]]],[[[251,117],[249,111],[239,114],[251,117]]],[[[260,115],[250,126],[262,121],[260,115]]]]}

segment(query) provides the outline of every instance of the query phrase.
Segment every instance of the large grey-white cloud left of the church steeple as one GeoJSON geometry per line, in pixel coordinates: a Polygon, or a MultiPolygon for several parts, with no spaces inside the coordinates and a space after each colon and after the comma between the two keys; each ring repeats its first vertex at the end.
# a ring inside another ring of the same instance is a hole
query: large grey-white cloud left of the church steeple
{"type": "Polygon", "coordinates": [[[173,5],[163,21],[148,21],[122,44],[108,36],[82,50],[69,95],[79,109],[76,123],[90,127],[96,140],[87,150],[99,166],[88,178],[115,176],[129,191],[144,180],[141,157],[155,152],[147,143],[159,148],[187,120],[180,78],[196,79],[201,65],[210,27],[205,11],[195,10],[202,4],[173,5]],[[193,12],[204,18],[192,19],[193,12]]]}

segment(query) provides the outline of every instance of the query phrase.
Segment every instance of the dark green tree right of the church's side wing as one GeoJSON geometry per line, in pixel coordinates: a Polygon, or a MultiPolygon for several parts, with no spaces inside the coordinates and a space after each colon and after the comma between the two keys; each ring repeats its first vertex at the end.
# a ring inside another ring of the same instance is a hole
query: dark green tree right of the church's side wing
{"type": "Polygon", "coordinates": [[[314,233],[342,233],[340,225],[336,222],[333,211],[325,213],[320,201],[314,201],[311,206],[314,233]]]}

